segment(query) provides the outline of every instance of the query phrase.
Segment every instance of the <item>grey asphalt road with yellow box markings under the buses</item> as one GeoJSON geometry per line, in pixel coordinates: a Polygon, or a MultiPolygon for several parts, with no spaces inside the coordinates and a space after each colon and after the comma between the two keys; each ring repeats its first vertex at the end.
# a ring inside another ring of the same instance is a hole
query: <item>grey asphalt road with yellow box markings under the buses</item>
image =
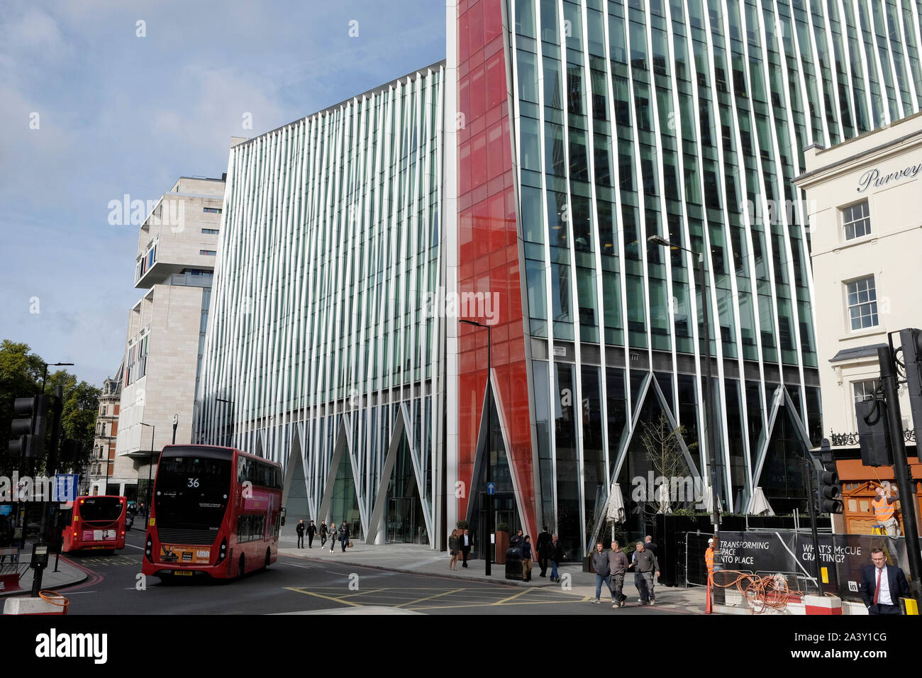
{"type": "MultiPolygon", "coordinates": [[[[140,577],[144,533],[132,530],[123,551],[111,556],[69,556],[92,574],[62,589],[68,614],[266,614],[398,608],[425,614],[622,614],[652,613],[649,608],[612,610],[559,589],[409,575],[354,565],[280,555],[264,572],[242,580],[176,582],[140,577]],[[144,584],[144,588],[139,588],[144,584]]],[[[372,611],[369,611],[372,612],[372,611]]],[[[656,613],[665,611],[656,610],[656,613]]]]}

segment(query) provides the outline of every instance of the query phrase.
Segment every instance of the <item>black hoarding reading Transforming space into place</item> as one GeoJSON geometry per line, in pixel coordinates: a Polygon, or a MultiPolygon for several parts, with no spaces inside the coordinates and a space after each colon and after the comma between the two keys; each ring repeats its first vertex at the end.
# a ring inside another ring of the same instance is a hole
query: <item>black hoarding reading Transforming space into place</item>
{"type": "MultiPolygon", "coordinates": [[[[845,600],[861,600],[861,568],[870,565],[872,548],[883,549],[889,565],[909,571],[902,540],[881,535],[822,534],[819,541],[820,563],[827,568],[829,577],[824,589],[845,600]]],[[[720,553],[727,570],[816,577],[816,555],[809,532],[721,532],[720,553]]],[[[793,580],[788,581],[788,586],[797,589],[793,580]]]]}

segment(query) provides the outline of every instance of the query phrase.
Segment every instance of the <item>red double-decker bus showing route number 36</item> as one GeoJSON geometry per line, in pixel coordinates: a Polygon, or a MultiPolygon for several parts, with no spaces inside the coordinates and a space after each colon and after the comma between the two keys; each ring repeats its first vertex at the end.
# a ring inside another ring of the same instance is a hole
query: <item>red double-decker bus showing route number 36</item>
{"type": "Polygon", "coordinates": [[[163,448],[141,571],[242,577],[278,558],[282,469],[232,447],[163,448]]]}

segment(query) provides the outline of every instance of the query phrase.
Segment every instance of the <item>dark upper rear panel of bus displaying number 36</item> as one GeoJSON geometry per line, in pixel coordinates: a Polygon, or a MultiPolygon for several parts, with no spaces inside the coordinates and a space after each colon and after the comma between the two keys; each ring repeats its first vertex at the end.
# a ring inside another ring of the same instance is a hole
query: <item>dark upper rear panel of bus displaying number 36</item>
{"type": "Polygon", "coordinates": [[[231,459],[163,457],[154,506],[165,529],[217,528],[231,494],[231,459]]]}

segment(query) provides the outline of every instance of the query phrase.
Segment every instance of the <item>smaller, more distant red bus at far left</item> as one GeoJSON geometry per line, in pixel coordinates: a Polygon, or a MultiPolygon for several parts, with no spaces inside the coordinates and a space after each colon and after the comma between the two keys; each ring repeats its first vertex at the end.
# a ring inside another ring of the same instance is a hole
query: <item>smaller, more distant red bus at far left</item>
{"type": "Polygon", "coordinates": [[[62,553],[124,549],[124,496],[80,496],[61,516],[62,553]]]}

